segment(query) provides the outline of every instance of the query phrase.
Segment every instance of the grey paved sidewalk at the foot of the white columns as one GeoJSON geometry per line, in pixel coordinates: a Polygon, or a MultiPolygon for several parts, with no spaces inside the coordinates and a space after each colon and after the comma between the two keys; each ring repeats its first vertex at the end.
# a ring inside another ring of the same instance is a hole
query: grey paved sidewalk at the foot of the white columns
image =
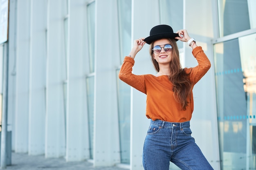
{"type": "Polygon", "coordinates": [[[7,170],[128,170],[118,167],[93,168],[88,161],[66,162],[63,158],[45,158],[40,156],[29,156],[23,153],[11,153],[11,166],[7,170]]]}

